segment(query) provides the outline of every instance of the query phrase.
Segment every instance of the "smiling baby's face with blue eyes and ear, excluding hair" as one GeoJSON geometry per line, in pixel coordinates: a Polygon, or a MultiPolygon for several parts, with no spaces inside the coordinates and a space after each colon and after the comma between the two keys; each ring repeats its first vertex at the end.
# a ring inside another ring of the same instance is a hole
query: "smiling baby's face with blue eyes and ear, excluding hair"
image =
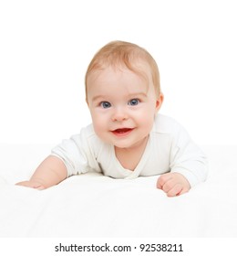
{"type": "Polygon", "coordinates": [[[162,95],[157,99],[149,69],[143,68],[149,80],[126,68],[107,68],[88,76],[94,130],[108,144],[132,148],[149,136],[162,95]]]}

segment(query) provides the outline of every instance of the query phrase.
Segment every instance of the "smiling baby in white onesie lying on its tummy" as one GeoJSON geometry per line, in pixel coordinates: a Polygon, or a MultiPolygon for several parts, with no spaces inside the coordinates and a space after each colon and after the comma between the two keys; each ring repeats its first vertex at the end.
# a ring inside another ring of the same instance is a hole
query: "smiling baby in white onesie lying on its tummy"
{"type": "Polygon", "coordinates": [[[94,171],[114,178],[159,176],[168,197],[184,194],[207,176],[207,159],[189,134],[159,112],[163,102],[156,61],[138,45],[113,41],[86,73],[92,124],[64,140],[17,185],[44,189],[94,171]]]}

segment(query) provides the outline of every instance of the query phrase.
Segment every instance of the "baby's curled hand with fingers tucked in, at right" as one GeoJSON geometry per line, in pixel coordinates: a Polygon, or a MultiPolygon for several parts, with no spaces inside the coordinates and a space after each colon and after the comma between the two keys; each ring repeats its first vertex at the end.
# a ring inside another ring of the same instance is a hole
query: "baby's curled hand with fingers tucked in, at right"
{"type": "Polygon", "coordinates": [[[157,187],[162,189],[168,197],[180,196],[191,189],[188,180],[179,173],[161,175],[157,187]]]}

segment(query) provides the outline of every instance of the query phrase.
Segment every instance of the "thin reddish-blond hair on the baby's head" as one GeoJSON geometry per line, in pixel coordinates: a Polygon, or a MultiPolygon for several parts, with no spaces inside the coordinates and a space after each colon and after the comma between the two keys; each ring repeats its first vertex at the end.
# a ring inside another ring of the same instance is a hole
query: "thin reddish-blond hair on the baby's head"
{"type": "Polygon", "coordinates": [[[141,70],[138,65],[136,66],[138,60],[142,60],[149,65],[156,96],[159,97],[160,73],[155,59],[152,58],[145,48],[140,48],[138,45],[124,41],[112,41],[108,43],[103,48],[100,48],[90,61],[85,77],[86,97],[88,98],[87,83],[90,73],[105,69],[109,66],[114,69],[125,66],[139,75],[144,75],[144,71],[141,70]]]}

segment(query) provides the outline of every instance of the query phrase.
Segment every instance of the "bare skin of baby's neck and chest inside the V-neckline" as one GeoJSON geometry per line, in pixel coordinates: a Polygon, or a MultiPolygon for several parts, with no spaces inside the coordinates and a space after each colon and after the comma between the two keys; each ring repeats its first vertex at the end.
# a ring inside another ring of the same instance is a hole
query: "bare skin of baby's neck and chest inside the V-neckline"
{"type": "Polygon", "coordinates": [[[119,148],[115,146],[115,155],[120,165],[124,168],[134,171],[146,149],[149,136],[144,138],[139,144],[129,148],[119,148]]]}

